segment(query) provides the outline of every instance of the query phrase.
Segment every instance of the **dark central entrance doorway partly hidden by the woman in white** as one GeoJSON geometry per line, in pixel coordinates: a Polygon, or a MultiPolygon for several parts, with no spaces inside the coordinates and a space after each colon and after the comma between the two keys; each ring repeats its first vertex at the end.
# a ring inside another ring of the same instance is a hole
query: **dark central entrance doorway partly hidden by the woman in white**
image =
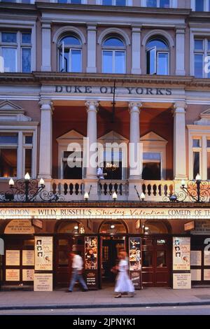
{"type": "Polygon", "coordinates": [[[125,250],[125,239],[102,237],[102,284],[114,283],[116,274],[111,268],[118,262],[118,253],[125,250]]]}

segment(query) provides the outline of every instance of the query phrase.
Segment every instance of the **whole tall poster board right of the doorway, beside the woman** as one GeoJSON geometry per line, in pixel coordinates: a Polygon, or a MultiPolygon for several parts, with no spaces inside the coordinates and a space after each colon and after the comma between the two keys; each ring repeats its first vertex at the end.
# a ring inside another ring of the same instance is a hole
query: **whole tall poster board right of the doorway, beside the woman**
{"type": "Polygon", "coordinates": [[[135,289],[141,289],[141,237],[129,238],[129,269],[135,289]]]}

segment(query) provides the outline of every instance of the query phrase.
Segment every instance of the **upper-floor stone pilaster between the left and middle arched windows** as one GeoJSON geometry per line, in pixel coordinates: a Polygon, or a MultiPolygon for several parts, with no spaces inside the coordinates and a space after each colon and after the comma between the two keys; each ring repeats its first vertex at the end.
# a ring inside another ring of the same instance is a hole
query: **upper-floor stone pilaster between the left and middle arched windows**
{"type": "Polygon", "coordinates": [[[96,73],[96,26],[87,26],[87,73],[96,73]]]}

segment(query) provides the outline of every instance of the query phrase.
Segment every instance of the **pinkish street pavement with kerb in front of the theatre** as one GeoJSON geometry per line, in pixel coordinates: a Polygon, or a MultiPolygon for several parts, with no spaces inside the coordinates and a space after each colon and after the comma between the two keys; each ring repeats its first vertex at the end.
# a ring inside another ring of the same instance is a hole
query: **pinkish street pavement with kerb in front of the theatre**
{"type": "Polygon", "coordinates": [[[73,293],[65,289],[52,292],[0,291],[0,310],[8,309],[90,309],[110,307],[167,307],[210,305],[210,288],[173,290],[172,288],[144,288],[134,297],[115,298],[113,287],[73,293]]]}

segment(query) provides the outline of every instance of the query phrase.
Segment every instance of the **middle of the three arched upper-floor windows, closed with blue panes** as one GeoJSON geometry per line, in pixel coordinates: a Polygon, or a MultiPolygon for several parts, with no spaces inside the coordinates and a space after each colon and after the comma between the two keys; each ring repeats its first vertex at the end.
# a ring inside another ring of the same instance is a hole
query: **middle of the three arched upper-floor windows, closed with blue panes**
{"type": "Polygon", "coordinates": [[[125,44],[116,37],[106,38],[102,44],[102,73],[125,73],[125,44]]]}

